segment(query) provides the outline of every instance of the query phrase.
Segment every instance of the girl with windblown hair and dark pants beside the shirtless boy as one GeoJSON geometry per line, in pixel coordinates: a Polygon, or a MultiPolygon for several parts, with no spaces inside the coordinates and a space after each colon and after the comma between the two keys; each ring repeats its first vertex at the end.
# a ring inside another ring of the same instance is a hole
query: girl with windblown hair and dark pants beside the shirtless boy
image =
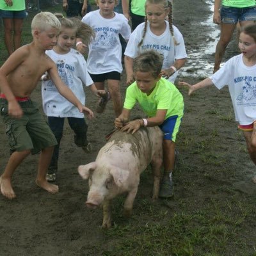
{"type": "MultiPolygon", "coordinates": [[[[55,15],[61,23],[60,35],[53,49],[45,53],[56,63],[61,80],[67,84],[70,90],[83,103],[85,103],[86,99],[83,84],[89,87],[97,97],[106,97],[106,92],[97,90],[95,84],[93,84],[83,55],[72,48],[77,36],[82,38],[85,44],[89,44],[94,36],[92,28],[83,24],[77,18],[67,19],[59,13],[55,15]]],[[[68,124],[74,131],[74,142],[77,147],[81,147],[84,152],[88,153],[91,150],[91,145],[87,140],[88,126],[84,120],[84,114],[80,113],[75,106],[60,95],[52,80],[47,80],[47,77],[42,78],[44,113],[48,116],[49,126],[58,142],[58,145],[54,147],[51,164],[46,175],[48,181],[54,182],[58,170],[60,141],[63,135],[65,118],[68,119],[68,124]]]]}

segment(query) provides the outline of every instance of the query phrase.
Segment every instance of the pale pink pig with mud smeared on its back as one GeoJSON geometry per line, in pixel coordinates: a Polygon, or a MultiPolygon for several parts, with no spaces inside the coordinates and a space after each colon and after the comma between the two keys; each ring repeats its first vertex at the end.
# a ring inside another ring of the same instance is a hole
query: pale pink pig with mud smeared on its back
{"type": "Polygon", "coordinates": [[[134,134],[117,130],[100,148],[95,162],[78,167],[79,175],[89,179],[86,205],[102,205],[102,227],[111,227],[111,200],[127,193],[124,216],[132,213],[140,183],[140,173],[151,164],[154,173],[153,199],[157,199],[163,163],[163,132],[159,127],[143,127],[134,134]]]}

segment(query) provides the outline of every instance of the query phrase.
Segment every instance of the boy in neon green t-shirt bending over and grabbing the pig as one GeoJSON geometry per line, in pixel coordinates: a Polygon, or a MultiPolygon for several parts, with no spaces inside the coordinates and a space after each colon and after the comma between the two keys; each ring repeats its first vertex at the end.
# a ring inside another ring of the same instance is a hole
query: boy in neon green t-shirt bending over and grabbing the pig
{"type": "Polygon", "coordinates": [[[115,127],[132,134],[140,127],[160,127],[164,134],[164,173],[159,197],[170,198],[173,196],[175,139],[183,116],[184,102],[175,85],[161,77],[162,65],[163,56],[154,50],[145,51],[134,59],[136,81],[126,90],[124,108],[122,114],[115,119],[115,127]],[[147,118],[129,121],[131,110],[137,102],[147,118]]]}

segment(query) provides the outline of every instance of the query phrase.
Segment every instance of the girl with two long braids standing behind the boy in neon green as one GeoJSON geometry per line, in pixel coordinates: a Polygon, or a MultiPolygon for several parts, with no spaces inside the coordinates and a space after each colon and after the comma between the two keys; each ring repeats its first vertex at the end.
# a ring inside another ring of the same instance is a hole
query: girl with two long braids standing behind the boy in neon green
{"type": "Polygon", "coordinates": [[[155,50],[163,55],[161,75],[174,83],[179,70],[186,62],[183,36],[173,26],[172,3],[168,0],[147,0],[145,22],[131,34],[125,49],[127,84],[134,81],[132,63],[141,52],[155,50]],[[165,17],[168,16],[168,21],[165,17]]]}

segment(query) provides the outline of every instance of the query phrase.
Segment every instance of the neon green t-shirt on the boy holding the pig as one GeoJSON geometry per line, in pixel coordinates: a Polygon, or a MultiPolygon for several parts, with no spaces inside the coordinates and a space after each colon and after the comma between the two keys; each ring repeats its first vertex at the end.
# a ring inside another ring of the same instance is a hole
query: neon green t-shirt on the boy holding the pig
{"type": "Polygon", "coordinates": [[[124,108],[132,109],[138,102],[148,117],[156,116],[157,109],[167,109],[164,120],[170,116],[183,115],[183,97],[174,84],[161,78],[150,95],[141,92],[136,81],[126,90],[124,108]]]}

